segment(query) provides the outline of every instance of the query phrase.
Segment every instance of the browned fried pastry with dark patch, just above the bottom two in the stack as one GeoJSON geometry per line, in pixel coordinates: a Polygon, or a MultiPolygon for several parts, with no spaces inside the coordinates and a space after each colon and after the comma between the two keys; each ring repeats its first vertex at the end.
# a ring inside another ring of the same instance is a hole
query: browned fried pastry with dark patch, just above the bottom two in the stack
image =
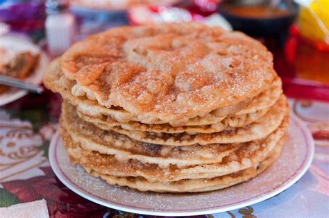
{"type": "Polygon", "coordinates": [[[264,148],[269,142],[275,146],[282,137],[282,133],[285,133],[287,118],[280,124],[280,128],[277,128],[275,133],[260,140],[234,144],[194,144],[192,146],[149,144],[132,140],[126,135],[104,131],[79,119],[74,108],[67,103],[63,103],[62,106],[60,126],[67,131],[74,142],[80,144],[85,150],[112,155],[117,160],[122,161],[135,159],[144,163],[154,163],[162,168],[169,167],[169,165],[176,165],[181,168],[221,162],[223,158],[232,155],[233,152],[242,147],[255,149],[263,144],[264,148]]]}

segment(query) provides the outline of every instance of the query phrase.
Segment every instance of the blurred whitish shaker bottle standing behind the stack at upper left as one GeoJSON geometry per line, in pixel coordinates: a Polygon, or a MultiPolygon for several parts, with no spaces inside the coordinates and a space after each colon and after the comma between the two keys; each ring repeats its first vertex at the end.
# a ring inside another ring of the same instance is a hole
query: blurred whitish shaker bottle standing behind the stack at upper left
{"type": "Polygon", "coordinates": [[[76,22],[67,0],[47,0],[46,35],[53,58],[64,53],[74,42],[76,22]]]}

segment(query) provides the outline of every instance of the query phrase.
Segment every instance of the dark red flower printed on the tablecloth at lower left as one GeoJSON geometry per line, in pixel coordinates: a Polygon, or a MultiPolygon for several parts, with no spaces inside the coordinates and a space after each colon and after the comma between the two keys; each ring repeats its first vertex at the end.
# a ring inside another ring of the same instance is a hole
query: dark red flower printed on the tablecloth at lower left
{"type": "Polygon", "coordinates": [[[1,183],[19,201],[45,199],[51,217],[103,217],[107,208],[71,192],[53,174],[51,167],[40,167],[44,176],[1,183]]]}

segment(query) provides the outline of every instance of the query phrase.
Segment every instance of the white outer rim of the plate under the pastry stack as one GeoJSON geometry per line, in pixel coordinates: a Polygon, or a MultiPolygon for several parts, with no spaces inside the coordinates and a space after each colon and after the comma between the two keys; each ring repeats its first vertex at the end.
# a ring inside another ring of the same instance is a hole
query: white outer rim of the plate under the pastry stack
{"type": "MultiPolygon", "coordinates": [[[[235,203],[230,203],[230,206],[213,206],[211,208],[200,208],[200,209],[195,209],[195,210],[156,210],[156,209],[149,209],[149,208],[141,208],[141,207],[131,207],[131,206],[125,206],[124,204],[121,203],[116,203],[112,201],[101,201],[99,199],[95,199],[94,197],[90,196],[93,195],[96,198],[99,198],[99,196],[96,196],[95,194],[92,194],[90,192],[87,192],[86,190],[81,190],[81,187],[78,187],[78,185],[74,184],[72,181],[71,183],[67,181],[65,178],[66,175],[61,171],[59,165],[56,164],[56,144],[58,144],[58,140],[60,138],[60,134],[57,131],[53,137],[51,138],[51,143],[49,144],[49,162],[51,165],[51,169],[53,169],[53,172],[56,174],[57,178],[69,188],[72,192],[78,194],[79,196],[82,196],[83,198],[92,201],[94,203],[98,203],[101,206],[105,206],[107,208],[113,208],[115,210],[121,210],[121,211],[126,211],[126,212],[133,212],[137,213],[140,215],[156,215],[156,216],[192,216],[192,215],[207,215],[207,214],[212,214],[212,213],[217,213],[217,212],[225,212],[228,210],[235,210],[237,208],[244,208],[246,206],[251,206],[255,203],[259,203],[261,201],[270,199],[273,196],[276,196],[280,192],[283,192],[287,190],[287,188],[291,187],[296,183],[307,171],[307,169],[310,168],[310,165],[312,163],[313,157],[314,157],[314,140],[312,137],[312,134],[308,130],[307,126],[305,123],[296,117],[296,115],[291,114],[290,115],[291,119],[296,121],[301,128],[301,131],[303,133],[303,136],[305,138],[305,144],[307,144],[307,153],[306,157],[301,163],[301,166],[294,172],[292,176],[287,178],[287,180],[284,183],[281,183],[277,187],[273,188],[272,190],[267,190],[267,192],[264,192],[258,196],[253,196],[251,199],[245,199],[242,201],[238,201],[235,203]],[[63,175],[62,175],[63,174],[63,175]],[[76,187],[74,187],[74,185],[76,187]],[[84,193],[84,192],[87,192],[84,193]],[[89,194],[89,195],[88,195],[89,194]]],[[[246,182],[248,183],[248,181],[246,182]]]]}

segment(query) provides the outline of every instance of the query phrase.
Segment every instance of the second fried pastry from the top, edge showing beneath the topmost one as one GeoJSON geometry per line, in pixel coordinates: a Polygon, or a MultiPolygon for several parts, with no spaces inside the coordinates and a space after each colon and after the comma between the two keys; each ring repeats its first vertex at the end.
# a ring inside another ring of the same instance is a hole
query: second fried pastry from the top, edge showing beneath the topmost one
{"type": "MultiPolygon", "coordinates": [[[[67,99],[71,104],[77,107],[77,110],[83,115],[88,117],[109,117],[118,122],[128,121],[140,121],[144,124],[166,124],[165,121],[157,119],[144,119],[140,115],[133,115],[130,112],[124,110],[121,107],[105,108],[100,106],[96,101],[87,99],[87,97],[76,97],[71,93],[71,89],[74,87],[75,82],[69,81],[61,72],[59,60],[54,60],[49,65],[44,75],[44,85],[51,89],[53,92],[59,92],[64,99],[67,99]]],[[[280,97],[282,93],[282,83],[280,78],[276,78],[270,87],[252,100],[248,99],[243,102],[239,102],[234,106],[228,106],[224,108],[217,108],[210,113],[198,115],[196,117],[188,119],[179,119],[169,122],[171,126],[200,126],[217,124],[228,115],[246,115],[248,113],[257,112],[273,106],[274,103],[280,97]],[[241,112],[241,110],[246,111],[241,112]]]]}

